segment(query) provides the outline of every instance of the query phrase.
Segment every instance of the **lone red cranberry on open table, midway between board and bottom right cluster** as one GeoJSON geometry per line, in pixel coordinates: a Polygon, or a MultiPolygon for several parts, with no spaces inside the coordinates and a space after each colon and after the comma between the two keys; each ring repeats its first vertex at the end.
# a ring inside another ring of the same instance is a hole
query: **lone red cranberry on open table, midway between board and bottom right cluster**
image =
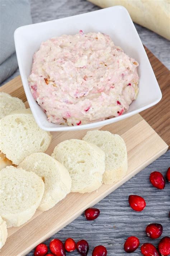
{"type": "Polygon", "coordinates": [[[130,195],[129,196],[129,205],[131,208],[137,212],[143,211],[143,209],[146,207],[146,202],[143,197],[136,196],[136,195],[130,195]]]}

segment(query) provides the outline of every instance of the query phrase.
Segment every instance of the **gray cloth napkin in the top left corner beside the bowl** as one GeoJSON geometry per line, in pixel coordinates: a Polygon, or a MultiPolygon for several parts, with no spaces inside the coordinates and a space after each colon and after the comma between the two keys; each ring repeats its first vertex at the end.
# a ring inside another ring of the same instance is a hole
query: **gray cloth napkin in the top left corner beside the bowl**
{"type": "Polygon", "coordinates": [[[0,83],[18,68],[14,31],[30,23],[29,0],[0,0],[0,83]]]}

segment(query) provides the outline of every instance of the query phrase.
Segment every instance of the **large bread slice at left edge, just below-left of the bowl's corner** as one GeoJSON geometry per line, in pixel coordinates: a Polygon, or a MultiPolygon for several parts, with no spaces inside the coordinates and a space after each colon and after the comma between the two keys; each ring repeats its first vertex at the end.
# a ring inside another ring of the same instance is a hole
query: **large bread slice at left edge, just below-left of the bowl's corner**
{"type": "Polygon", "coordinates": [[[0,120],[0,151],[19,165],[35,152],[45,152],[51,134],[37,125],[30,109],[16,110],[0,120]]]}

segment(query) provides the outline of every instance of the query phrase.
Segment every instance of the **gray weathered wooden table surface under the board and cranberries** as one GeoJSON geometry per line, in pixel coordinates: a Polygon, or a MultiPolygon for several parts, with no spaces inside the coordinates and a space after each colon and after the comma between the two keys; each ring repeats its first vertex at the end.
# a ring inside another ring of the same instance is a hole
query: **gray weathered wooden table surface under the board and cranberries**
{"type": "MultiPolygon", "coordinates": [[[[98,9],[100,9],[98,6],[86,0],[31,0],[33,23],[98,9]]],[[[137,24],[135,26],[143,44],[170,68],[169,41],[137,24]]],[[[19,71],[8,80],[16,75],[19,75],[19,71]]],[[[155,170],[165,175],[169,165],[170,151],[100,201],[96,205],[101,211],[98,219],[86,221],[84,215],[81,215],[45,243],[49,245],[49,241],[53,238],[59,238],[63,242],[68,237],[74,238],[75,241],[86,239],[90,246],[88,255],[91,255],[95,246],[103,244],[108,249],[108,256],[125,255],[123,244],[131,235],[137,236],[141,244],[152,242],[157,246],[159,239],[151,241],[146,237],[145,228],[149,223],[161,223],[164,228],[163,236],[170,235],[170,184],[166,183],[164,190],[158,190],[150,184],[149,175],[155,170]],[[129,194],[138,194],[146,199],[147,207],[143,212],[135,212],[128,206],[129,194]]],[[[33,251],[28,255],[33,255],[33,251]]],[[[73,252],[70,255],[76,256],[78,253],[73,252]]],[[[138,248],[132,255],[140,255],[140,249],[138,248]]]]}

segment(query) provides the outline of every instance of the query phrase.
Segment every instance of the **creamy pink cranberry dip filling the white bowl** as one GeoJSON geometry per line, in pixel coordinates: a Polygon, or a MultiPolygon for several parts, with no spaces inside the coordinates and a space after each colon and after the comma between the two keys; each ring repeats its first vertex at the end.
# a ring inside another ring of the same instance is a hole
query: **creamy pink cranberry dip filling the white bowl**
{"type": "Polygon", "coordinates": [[[108,35],[62,35],[42,42],[28,78],[49,122],[82,125],[120,116],[138,93],[138,63],[108,35]]]}

